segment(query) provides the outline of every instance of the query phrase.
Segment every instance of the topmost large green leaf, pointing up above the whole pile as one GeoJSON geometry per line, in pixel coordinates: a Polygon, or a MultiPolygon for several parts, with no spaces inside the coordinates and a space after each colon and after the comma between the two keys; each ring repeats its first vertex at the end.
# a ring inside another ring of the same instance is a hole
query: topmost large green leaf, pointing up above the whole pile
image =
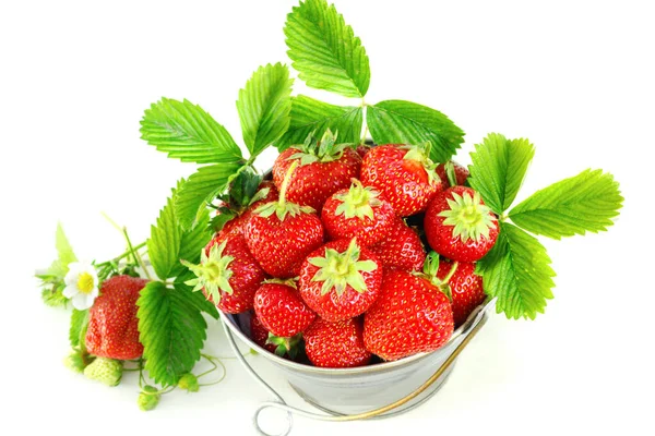
{"type": "Polygon", "coordinates": [[[369,59],[334,5],[307,0],[287,15],[287,55],[308,86],[346,97],[364,97],[371,80],[369,59]]]}

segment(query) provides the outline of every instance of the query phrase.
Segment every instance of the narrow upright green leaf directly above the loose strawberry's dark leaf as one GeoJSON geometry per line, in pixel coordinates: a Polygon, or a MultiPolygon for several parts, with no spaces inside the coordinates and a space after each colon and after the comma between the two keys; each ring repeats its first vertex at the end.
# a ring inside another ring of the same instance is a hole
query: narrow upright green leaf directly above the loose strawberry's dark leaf
{"type": "Polygon", "coordinates": [[[182,229],[179,227],[175,215],[171,195],[166,201],[166,206],[159,211],[156,226],[151,227],[151,237],[147,240],[148,258],[155,274],[162,280],[166,280],[171,270],[180,263],[181,240],[182,229]]]}

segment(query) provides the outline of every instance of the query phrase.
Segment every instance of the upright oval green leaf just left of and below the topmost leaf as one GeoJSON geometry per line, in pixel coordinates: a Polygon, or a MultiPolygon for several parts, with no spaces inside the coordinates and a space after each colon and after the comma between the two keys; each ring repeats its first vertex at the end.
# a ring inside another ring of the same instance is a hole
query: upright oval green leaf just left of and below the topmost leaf
{"type": "Polygon", "coordinates": [[[276,63],[260,66],[239,90],[237,110],[250,156],[258,156],[289,126],[291,84],[289,70],[276,63]]]}

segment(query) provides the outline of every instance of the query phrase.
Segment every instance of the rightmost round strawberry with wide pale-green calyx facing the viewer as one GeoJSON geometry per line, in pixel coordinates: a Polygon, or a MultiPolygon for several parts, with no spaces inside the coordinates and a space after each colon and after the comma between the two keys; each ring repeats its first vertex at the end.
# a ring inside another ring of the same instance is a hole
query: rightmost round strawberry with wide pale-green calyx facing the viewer
{"type": "Polygon", "coordinates": [[[432,250],[453,261],[481,258],[498,238],[496,215],[479,193],[466,186],[452,186],[437,194],[424,222],[432,250]]]}

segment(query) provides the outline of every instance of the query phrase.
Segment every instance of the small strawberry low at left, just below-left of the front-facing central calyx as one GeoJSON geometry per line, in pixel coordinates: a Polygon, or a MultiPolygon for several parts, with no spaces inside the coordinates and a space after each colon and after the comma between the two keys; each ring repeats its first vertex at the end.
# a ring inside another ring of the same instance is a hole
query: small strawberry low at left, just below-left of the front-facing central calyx
{"type": "Polygon", "coordinates": [[[293,281],[264,282],[254,294],[254,313],[266,330],[284,338],[302,332],[317,317],[293,281]]]}

